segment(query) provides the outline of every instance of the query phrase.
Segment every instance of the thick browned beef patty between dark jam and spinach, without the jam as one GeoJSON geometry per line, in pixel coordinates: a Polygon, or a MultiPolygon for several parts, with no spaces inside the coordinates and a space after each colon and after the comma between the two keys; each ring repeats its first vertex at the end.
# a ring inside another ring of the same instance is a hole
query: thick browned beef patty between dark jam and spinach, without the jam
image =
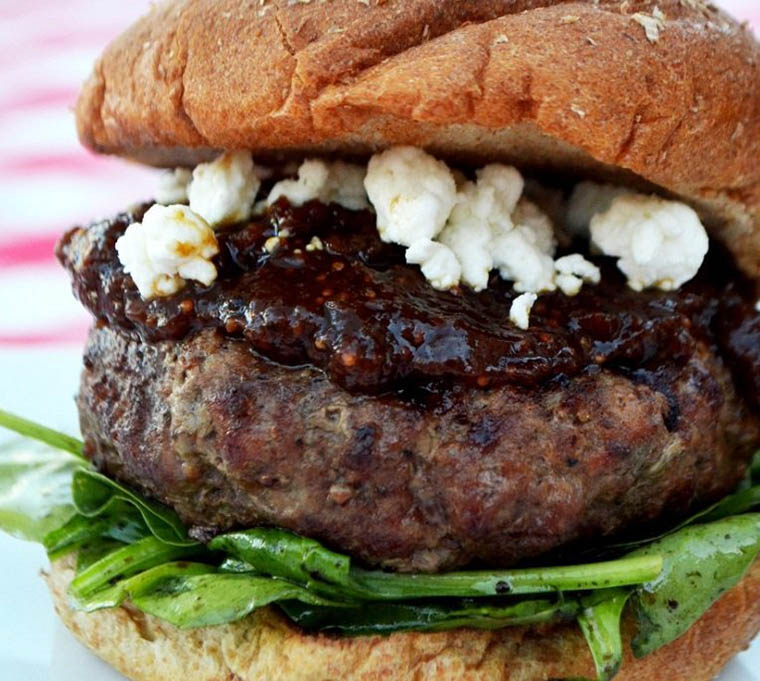
{"type": "Polygon", "coordinates": [[[100,324],[79,408],[99,468],[196,534],[275,525],[414,571],[674,519],[730,491],[760,440],[705,347],[646,374],[367,396],[215,329],[147,343],[100,324]]]}

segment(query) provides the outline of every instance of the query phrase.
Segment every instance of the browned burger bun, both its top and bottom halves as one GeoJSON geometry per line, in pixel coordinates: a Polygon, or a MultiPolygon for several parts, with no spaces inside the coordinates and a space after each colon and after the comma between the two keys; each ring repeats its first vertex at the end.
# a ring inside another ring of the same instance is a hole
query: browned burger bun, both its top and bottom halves
{"type": "MultiPolygon", "coordinates": [[[[702,0],[168,0],[105,52],[77,105],[83,143],[157,166],[220,150],[257,160],[364,158],[410,144],[614,181],[694,206],[760,277],[760,46],[702,0]],[[664,18],[660,18],[660,11],[664,18]]],[[[276,609],[181,631],[131,608],[66,601],[65,624],[135,681],[594,676],[575,625],[308,635],[276,609]]],[[[760,563],[622,681],[708,681],[760,629],[760,563]]]]}

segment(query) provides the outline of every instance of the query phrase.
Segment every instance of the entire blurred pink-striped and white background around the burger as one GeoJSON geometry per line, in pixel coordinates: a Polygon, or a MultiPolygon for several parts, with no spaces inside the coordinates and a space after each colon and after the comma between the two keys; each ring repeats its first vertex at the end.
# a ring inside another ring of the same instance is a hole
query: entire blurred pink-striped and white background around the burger
{"type": "MultiPolygon", "coordinates": [[[[71,432],[89,318],[54,244],[73,225],[149,198],[156,181],[153,170],[83,150],[72,107],[97,55],[149,4],[0,0],[0,407],[71,432]]],[[[760,0],[718,4],[760,32],[760,0]]],[[[39,579],[44,564],[39,547],[0,535],[0,677],[120,678],[55,624],[39,579]]],[[[760,681],[750,671],[760,670],[760,646],[750,655],[726,681],[760,681]]]]}

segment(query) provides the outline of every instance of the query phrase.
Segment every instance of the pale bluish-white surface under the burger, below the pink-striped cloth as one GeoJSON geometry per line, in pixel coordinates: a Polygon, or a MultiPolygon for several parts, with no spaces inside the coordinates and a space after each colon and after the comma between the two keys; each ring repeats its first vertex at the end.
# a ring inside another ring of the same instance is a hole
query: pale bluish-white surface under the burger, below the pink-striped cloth
{"type": "MultiPolygon", "coordinates": [[[[72,396],[80,361],[74,348],[3,352],[0,406],[75,431],[72,396]]],[[[57,621],[40,578],[45,565],[41,547],[0,534],[0,679],[125,681],[57,621]]],[[[723,671],[720,681],[760,681],[760,639],[723,671]]]]}

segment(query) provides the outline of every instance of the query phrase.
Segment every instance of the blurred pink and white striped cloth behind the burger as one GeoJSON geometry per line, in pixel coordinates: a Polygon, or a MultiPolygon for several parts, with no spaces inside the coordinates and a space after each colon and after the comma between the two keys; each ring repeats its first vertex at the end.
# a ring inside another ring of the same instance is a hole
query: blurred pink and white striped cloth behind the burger
{"type": "MultiPolygon", "coordinates": [[[[760,28],[758,0],[721,4],[760,28]]],[[[0,3],[0,350],[83,341],[89,318],[71,296],[53,245],[68,227],[152,194],[155,171],[84,151],[71,113],[103,46],[148,5],[0,3]]]]}

